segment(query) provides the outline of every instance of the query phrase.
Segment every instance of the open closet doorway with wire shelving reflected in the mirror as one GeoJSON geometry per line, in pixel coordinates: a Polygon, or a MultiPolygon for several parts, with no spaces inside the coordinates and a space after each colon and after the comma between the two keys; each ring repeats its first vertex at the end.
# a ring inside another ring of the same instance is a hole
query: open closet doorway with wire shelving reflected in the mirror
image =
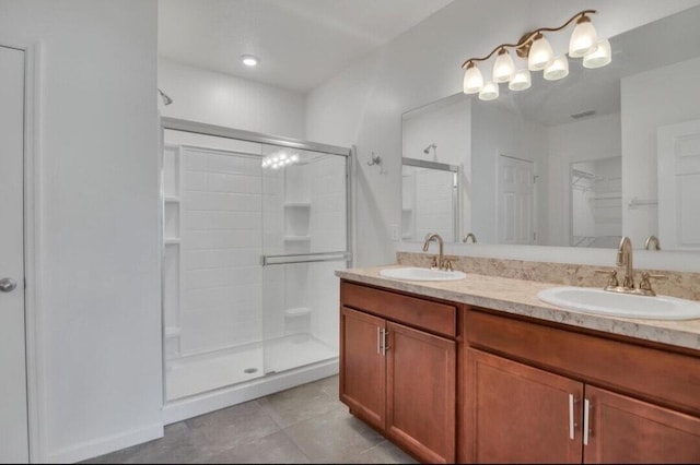
{"type": "Polygon", "coordinates": [[[571,241],[574,247],[616,248],[622,231],[622,159],[571,164],[571,241]]]}

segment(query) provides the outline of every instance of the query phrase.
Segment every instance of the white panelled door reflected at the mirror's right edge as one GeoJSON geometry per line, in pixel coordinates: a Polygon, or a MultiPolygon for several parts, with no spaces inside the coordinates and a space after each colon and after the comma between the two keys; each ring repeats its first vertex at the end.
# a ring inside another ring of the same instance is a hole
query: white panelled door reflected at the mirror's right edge
{"type": "Polygon", "coordinates": [[[661,247],[700,250],[700,120],[658,128],[657,144],[661,247]]]}

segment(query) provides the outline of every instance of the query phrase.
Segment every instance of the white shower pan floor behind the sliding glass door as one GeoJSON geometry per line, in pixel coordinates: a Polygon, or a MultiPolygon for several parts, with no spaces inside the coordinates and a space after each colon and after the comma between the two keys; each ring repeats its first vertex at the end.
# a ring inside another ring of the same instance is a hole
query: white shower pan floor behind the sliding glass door
{"type": "Polygon", "coordinates": [[[165,397],[187,397],[338,357],[308,334],[294,334],[232,349],[167,361],[165,397]]]}

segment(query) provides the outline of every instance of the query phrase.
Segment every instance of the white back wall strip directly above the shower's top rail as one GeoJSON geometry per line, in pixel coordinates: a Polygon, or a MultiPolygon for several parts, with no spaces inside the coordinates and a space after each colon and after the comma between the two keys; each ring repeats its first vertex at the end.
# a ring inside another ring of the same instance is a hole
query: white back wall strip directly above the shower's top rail
{"type": "Polygon", "coordinates": [[[158,73],[158,86],[173,99],[160,105],[164,117],[304,139],[304,94],[165,58],[158,73]]]}

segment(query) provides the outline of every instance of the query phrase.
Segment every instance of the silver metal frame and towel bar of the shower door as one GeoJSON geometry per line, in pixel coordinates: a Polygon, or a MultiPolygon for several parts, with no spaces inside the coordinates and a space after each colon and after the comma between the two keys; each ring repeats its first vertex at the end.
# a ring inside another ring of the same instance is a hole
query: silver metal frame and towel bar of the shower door
{"type": "MultiPolygon", "coordinates": [[[[160,202],[161,205],[164,202],[164,174],[163,174],[163,150],[165,146],[165,130],[174,130],[174,131],[184,131],[202,135],[212,135],[225,139],[234,139],[240,141],[260,143],[275,145],[287,148],[296,148],[304,151],[313,151],[320,152],[330,155],[338,155],[346,157],[346,250],[345,251],[334,251],[334,252],[319,252],[319,253],[308,253],[308,254],[289,254],[285,255],[261,255],[260,257],[260,265],[276,265],[276,264],[289,264],[289,263],[306,263],[306,262],[320,262],[320,261],[340,261],[345,259],[346,265],[348,267],[352,267],[352,183],[351,183],[351,171],[352,171],[352,158],[354,154],[354,147],[341,147],[329,144],[322,144],[317,142],[303,141],[292,138],[284,136],[276,136],[268,135],[259,132],[244,131],[238,129],[232,129],[221,126],[208,124],[197,121],[189,121],[178,118],[170,118],[170,117],[161,117],[161,138],[160,138],[160,151],[159,151],[159,171],[160,171],[160,202]]],[[[165,321],[165,306],[164,306],[164,297],[165,297],[165,276],[164,276],[164,260],[165,260],[165,243],[164,243],[164,217],[161,214],[159,218],[160,223],[160,263],[161,263],[161,346],[162,350],[162,398],[163,405],[165,406],[168,403],[166,397],[166,354],[165,354],[165,325],[163,322],[165,321]]],[[[222,386],[226,388],[226,386],[222,386]]]]}

